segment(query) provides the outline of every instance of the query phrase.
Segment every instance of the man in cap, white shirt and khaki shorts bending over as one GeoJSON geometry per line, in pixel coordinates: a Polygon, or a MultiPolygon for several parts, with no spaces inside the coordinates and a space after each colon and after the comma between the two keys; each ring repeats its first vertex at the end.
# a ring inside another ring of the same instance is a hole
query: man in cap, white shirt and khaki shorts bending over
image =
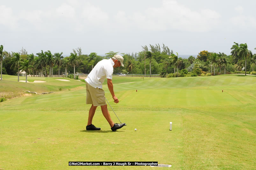
{"type": "Polygon", "coordinates": [[[104,59],[99,61],[96,66],[89,73],[86,81],[86,104],[92,104],[89,110],[88,123],[86,130],[100,130],[100,128],[95,127],[92,124],[92,118],[95,114],[97,106],[101,107],[103,116],[107,119],[111,130],[116,131],[117,129],[122,128],[123,124],[115,124],[109,114],[107,103],[105,101],[105,92],[102,89],[102,83],[107,78],[108,88],[114,99],[115,103],[118,103],[119,100],[115,96],[113,84],[112,84],[112,74],[113,68],[123,66],[124,67],[124,58],[121,55],[114,55],[111,59],[104,59]]]}

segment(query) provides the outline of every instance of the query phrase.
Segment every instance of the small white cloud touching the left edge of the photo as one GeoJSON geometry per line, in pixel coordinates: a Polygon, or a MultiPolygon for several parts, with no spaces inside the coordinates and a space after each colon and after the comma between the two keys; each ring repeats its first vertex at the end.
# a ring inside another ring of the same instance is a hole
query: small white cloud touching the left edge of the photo
{"type": "Polygon", "coordinates": [[[17,19],[12,13],[12,9],[5,5],[0,5],[0,24],[6,25],[14,29],[16,27],[17,19]]]}

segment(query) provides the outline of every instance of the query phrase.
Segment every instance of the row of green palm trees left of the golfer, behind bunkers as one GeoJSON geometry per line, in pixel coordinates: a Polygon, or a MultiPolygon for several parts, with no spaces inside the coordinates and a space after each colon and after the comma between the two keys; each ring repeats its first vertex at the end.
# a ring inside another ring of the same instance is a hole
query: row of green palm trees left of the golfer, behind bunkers
{"type": "MultiPolygon", "coordinates": [[[[1,60],[1,80],[2,80],[2,60],[3,60],[3,46],[0,46],[0,60],[1,60]]],[[[70,53],[69,57],[64,58],[61,53],[54,53],[54,55],[51,53],[51,51],[45,51],[41,50],[41,53],[37,53],[35,56],[33,53],[27,55],[25,60],[22,60],[20,53],[12,53],[13,58],[12,66],[15,67],[18,70],[18,81],[19,81],[19,73],[20,70],[26,72],[26,82],[27,82],[27,73],[30,74],[32,71],[32,75],[39,77],[46,77],[46,68],[49,68],[49,77],[53,77],[53,67],[58,66],[59,71],[59,77],[60,77],[60,67],[65,67],[65,75],[67,75],[67,67],[69,65],[74,66],[74,79],[75,79],[75,66],[78,65],[78,55],[77,53],[70,53]],[[44,73],[44,74],[43,74],[44,73]]]]}

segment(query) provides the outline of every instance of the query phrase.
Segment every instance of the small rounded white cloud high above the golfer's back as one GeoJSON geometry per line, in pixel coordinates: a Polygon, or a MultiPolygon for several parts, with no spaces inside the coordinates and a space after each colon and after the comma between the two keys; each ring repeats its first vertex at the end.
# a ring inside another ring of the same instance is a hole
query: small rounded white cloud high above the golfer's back
{"type": "Polygon", "coordinates": [[[87,2],[82,11],[82,17],[94,25],[103,25],[107,23],[109,16],[107,13],[87,2]]]}

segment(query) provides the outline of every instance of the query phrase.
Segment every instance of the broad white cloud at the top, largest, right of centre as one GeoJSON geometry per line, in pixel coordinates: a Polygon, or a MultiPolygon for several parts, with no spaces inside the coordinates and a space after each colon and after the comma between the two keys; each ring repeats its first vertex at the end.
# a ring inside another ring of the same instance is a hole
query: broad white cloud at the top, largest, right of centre
{"type": "Polygon", "coordinates": [[[134,12],[129,16],[115,16],[124,25],[136,25],[150,31],[183,30],[190,32],[207,32],[220,22],[221,15],[210,9],[193,11],[189,7],[173,0],[163,0],[161,7],[151,7],[144,12],[134,12]],[[123,17],[124,19],[122,19],[123,17]]]}

